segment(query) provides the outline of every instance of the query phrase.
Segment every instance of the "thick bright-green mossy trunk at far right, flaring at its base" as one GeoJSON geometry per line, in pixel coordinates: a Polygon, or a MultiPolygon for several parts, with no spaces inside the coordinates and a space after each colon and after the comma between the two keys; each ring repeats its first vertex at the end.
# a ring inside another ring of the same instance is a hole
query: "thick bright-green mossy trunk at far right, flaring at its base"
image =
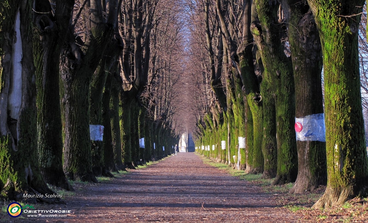
{"type": "Polygon", "coordinates": [[[367,195],[368,159],[360,94],[358,27],[364,0],[308,0],[322,44],[327,188],[313,208],[367,195]]]}

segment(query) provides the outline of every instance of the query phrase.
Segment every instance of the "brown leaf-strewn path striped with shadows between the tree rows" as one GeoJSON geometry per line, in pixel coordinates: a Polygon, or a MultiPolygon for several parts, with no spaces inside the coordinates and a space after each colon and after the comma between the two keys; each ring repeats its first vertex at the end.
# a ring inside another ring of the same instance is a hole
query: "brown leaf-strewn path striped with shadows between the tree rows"
{"type": "Polygon", "coordinates": [[[272,193],[203,163],[195,153],[178,153],[130,172],[109,182],[85,185],[74,196],[64,195],[66,205],[37,205],[37,209],[72,210],[67,217],[26,217],[23,213],[23,220],[307,222],[295,213],[277,208],[272,193]]]}

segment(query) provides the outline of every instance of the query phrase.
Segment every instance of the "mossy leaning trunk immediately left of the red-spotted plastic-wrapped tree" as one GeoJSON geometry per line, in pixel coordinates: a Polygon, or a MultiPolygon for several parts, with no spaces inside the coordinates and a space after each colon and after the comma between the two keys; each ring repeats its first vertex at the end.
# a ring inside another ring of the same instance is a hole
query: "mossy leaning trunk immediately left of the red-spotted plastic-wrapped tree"
{"type": "Polygon", "coordinates": [[[285,26],[278,22],[279,7],[268,0],[255,0],[254,4],[259,21],[252,22],[251,30],[261,53],[263,75],[269,75],[275,93],[277,174],[272,184],[284,184],[297,177],[293,68],[281,43],[285,26]]]}

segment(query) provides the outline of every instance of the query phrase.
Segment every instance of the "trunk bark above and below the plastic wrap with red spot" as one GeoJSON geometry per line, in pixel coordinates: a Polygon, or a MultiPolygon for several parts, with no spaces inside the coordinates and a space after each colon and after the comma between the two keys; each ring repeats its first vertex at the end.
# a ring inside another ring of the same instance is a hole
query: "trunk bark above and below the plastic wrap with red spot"
{"type": "MultiPolygon", "coordinates": [[[[288,24],[288,38],[293,60],[296,117],[323,113],[322,105],[322,51],[319,33],[307,1],[289,0],[283,4],[288,24]]],[[[297,141],[298,176],[290,193],[313,191],[325,185],[325,142],[297,141]]]]}

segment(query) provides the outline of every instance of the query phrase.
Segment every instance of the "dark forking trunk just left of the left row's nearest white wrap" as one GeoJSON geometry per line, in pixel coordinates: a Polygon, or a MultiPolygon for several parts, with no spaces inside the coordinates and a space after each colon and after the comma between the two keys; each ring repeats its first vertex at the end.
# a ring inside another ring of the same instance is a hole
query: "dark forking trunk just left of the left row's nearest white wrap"
{"type": "MultiPolygon", "coordinates": [[[[70,35],[73,36],[72,33],[70,35]]],[[[69,38],[71,37],[69,36],[69,38]]],[[[101,58],[105,49],[105,38],[96,36],[96,42],[92,43],[92,47],[89,48],[90,51],[84,55],[84,58],[79,59],[79,63],[76,63],[69,56],[74,53],[69,52],[69,49],[75,49],[75,46],[64,49],[61,55],[66,135],[64,170],[72,180],[98,182],[92,173],[91,139],[89,136],[89,86],[99,58],[101,58]]],[[[70,42],[70,44],[75,45],[74,42],[70,42]]],[[[79,52],[79,54],[82,56],[83,53],[79,52]]]]}

